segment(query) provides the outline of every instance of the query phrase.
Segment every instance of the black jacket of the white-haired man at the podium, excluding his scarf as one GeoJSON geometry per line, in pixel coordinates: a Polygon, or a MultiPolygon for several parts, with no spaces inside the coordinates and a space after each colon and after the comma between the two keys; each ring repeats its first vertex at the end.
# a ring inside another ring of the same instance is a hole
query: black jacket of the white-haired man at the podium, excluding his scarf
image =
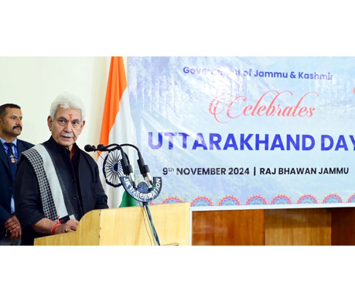
{"type": "MultiPolygon", "coordinates": [[[[43,145],[52,155],[64,182],[77,219],[87,212],[108,208],[107,196],[98,175],[96,162],[75,144],[72,159],[69,151],[58,145],[52,136],[43,145]]],[[[45,218],[39,197],[38,182],[29,160],[21,156],[14,180],[16,217],[22,228],[21,245],[33,245],[37,237],[50,234],[36,233],[31,225],[45,218]]],[[[65,223],[69,218],[60,217],[65,223]]]]}

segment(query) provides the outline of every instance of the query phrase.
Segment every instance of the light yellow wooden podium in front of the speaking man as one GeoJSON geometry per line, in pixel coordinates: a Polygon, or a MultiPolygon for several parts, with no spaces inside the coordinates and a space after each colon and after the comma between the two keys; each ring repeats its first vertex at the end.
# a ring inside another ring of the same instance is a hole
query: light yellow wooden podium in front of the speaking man
{"type": "MultiPolygon", "coordinates": [[[[190,203],[150,205],[161,245],[190,244],[190,203]]],[[[94,210],[75,232],[36,238],[34,245],[155,245],[143,207],[94,210]]]]}

